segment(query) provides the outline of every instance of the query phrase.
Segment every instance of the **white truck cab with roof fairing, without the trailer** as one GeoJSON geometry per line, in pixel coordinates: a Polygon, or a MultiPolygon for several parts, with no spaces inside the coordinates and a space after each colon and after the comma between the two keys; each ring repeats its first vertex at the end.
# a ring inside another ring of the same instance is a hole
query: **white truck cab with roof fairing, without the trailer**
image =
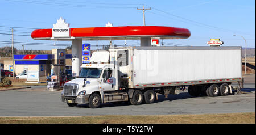
{"type": "Polygon", "coordinates": [[[81,65],[79,77],[65,83],[61,92],[63,102],[68,106],[88,104],[90,108],[97,108],[100,103],[127,100],[127,94],[116,92],[119,66],[115,60],[115,54],[109,51],[94,52],[90,64],[81,65]]]}

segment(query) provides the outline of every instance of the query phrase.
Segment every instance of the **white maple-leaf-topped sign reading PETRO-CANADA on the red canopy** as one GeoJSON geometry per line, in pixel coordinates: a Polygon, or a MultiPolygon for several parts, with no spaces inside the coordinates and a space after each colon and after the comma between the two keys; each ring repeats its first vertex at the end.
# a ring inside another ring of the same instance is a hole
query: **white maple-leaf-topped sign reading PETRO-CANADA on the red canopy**
{"type": "Polygon", "coordinates": [[[66,23],[65,19],[60,17],[57,23],[53,24],[52,37],[69,37],[69,23],[66,23]]]}

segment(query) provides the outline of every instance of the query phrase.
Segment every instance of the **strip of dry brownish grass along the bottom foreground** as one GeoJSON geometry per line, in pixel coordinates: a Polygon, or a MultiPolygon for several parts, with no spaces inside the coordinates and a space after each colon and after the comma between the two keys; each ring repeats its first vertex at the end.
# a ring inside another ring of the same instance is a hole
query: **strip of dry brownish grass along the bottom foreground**
{"type": "Polygon", "coordinates": [[[200,115],[0,117],[0,124],[255,124],[255,112],[200,115]]]}

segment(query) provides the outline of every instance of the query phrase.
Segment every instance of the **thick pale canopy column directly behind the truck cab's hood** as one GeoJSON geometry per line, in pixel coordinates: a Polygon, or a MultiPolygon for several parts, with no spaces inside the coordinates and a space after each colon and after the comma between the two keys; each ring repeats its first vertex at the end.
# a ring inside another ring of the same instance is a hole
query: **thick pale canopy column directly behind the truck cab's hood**
{"type": "Polygon", "coordinates": [[[82,64],[82,40],[72,40],[72,77],[78,77],[82,64]]]}

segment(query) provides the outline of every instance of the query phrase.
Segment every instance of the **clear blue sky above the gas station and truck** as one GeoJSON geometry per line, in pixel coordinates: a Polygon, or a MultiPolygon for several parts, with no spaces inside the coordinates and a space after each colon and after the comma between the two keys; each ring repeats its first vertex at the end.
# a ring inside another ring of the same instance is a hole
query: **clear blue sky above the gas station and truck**
{"type": "MultiPolygon", "coordinates": [[[[11,28],[14,29],[14,47],[27,50],[65,48],[71,41],[34,40],[35,29],[53,28],[62,17],[71,28],[113,26],[143,26],[142,5],[146,9],[146,26],[187,28],[188,39],[164,40],[164,46],[208,46],[210,39],[224,41],[223,46],[255,48],[254,0],[167,0],[167,1],[82,1],[82,0],[0,0],[0,47],[11,46],[11,28]],[[237,35],[237,36],[233,36],[237,35]],[[241,37],[242,36],[242,37],[241,37]],[[34,45],[31,45],[31,44],[34,45]],[[40,44],[38,44],[40,43],[40,44]]],[[[139,40],[126,41],[139,45],[139,40]]],[[[96,41],[83,41],[96,49],[96,41]]],[[[98,41],[100,45],[109,41],[98,41]]],[[[125,41],[113,41],[125,45],[125,41]]]]}

